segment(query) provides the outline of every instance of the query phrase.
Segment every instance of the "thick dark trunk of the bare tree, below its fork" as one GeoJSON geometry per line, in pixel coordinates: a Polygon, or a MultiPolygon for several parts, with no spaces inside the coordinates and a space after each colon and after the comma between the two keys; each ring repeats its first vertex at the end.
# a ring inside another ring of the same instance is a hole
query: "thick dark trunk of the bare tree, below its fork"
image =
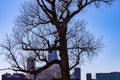
{"type": "Polygon", "coordinates": [[[61,58],[61,75],[62,80],[70,80],[69,73],[69,60],[67,51],[67,39],[66,39],[66,26],[60,26],[59,36],[60,36],[60,58],[61,58]]]}

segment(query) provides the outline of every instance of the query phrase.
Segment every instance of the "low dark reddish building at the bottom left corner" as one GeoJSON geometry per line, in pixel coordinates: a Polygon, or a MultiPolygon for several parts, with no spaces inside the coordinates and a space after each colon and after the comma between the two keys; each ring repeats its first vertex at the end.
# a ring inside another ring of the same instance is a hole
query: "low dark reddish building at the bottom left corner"
{"type": "Polygon", "coordinates": [[[30,80],[22,73],[14,73],[11,75],[10,73],[5,73],[2,75],[2,80],[30,80]]]}

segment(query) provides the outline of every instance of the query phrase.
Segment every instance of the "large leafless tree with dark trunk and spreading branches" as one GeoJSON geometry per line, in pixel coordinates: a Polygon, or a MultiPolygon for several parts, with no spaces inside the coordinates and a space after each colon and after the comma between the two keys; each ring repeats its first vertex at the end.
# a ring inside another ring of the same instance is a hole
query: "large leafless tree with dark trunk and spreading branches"
{"type": "Polygon", "coordinates": [[[8,51],[5,53],[8,53],[12,65],[10,69],[37,75],[51,65],[58,64],[61,79],[69,80],[70,70],[79,64],[81,58],[96,55],[102,47],[101,41],[86,31],[84,21],[72,22],[72,18],[87,6],[99,7],[102,3],[111,2],[112,0],[26,2],[15,20],[12,39],[8,38],[1,45],[8,51]],[[47,55],[53,50],[58,50],[60,59],[48,62],[47,55]],[[28,55],[33,55],[43,66],[37,70],[27,70],[23,60],[28,55]]]}

